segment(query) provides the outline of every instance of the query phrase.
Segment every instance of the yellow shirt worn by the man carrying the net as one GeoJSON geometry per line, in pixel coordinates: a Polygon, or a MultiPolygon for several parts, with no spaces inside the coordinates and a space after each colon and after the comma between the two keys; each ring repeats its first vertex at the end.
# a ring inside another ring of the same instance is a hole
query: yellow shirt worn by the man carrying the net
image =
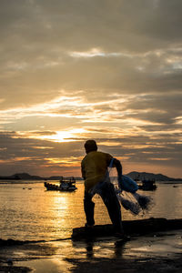
{"type": "Polygon", "coordinates": [[[84,157],[81,168],[87,192],[106,177],[106,170],[112,158],[109,154],[97,151],[89,152],[84,157]]]}

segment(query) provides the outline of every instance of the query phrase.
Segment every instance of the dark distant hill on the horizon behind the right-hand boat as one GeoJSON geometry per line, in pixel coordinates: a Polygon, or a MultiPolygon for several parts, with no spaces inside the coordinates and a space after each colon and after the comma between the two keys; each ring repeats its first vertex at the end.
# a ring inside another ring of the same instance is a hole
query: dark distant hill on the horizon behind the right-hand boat
{"type": "Polygon", "coordinates": [[[126,176],[134,180],[155,180],[155,181],[182,181],[182,178],[167,177],[161,174],[153,174],[146,172],[130,172],[126,176]]]}

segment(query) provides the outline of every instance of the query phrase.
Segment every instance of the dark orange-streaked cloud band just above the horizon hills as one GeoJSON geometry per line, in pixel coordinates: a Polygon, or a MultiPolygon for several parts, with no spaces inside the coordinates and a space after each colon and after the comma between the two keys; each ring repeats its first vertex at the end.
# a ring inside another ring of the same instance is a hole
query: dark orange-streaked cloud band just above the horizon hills
{"type": "MultiPolygon", "coordinates": [[[[96,133],[93,135],[96,136],[96,133]]],[[[103,136],[103,132],[100,136],[103,136]]],[[[69,142],[54,142],[35,139],[34,136],[20,136],[14,132],[1,133],[0,138],[2,174],[10,167],[12,172],[21,170],[42,176],[45,173],[48,175],[48,172],[58,174],[59,171],[66,174],[69,167],[71,174],[80,175],[80,162],[85,155],[84,143],[87,138],[77,137],[74,142],[71,141],[74,139],[69,142]]],[[[136,162],[149,166],[151,161],[157,162],[158,167],[180,167],[181,148],[177,143],[177,136],[160,136],[159,133],[156,137],[129,134],[119,138],[97,136],[95,139],[99,150],[120,159],[125,168],[136,166],[136,162]]]]}

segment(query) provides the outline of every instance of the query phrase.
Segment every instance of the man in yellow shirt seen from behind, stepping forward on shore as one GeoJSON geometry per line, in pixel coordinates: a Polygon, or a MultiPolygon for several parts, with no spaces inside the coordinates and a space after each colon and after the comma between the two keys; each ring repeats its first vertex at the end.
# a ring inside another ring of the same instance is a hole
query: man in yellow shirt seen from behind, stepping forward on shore
{"type": "Polygon", "coordinates": [[[122,166],[116,158],[113,158],[109,154],[97,151],[95,140],[87,140],[85,148],[86,157],[82,160],[81,169],[82,177],[85,179],[84,209],[86,213],[86,227],[93,227],[95,224],[95,203],[92,201],[92,190],[93,188],[99,187],[99,195],[106,205],[116,235],[123,236],[121,208],[116,197],[115,188],[110,182],[109,177],[106,176],[107,167],[112,159],[113,167],[116,167],[118,177],[122,176],[122,166]]]}

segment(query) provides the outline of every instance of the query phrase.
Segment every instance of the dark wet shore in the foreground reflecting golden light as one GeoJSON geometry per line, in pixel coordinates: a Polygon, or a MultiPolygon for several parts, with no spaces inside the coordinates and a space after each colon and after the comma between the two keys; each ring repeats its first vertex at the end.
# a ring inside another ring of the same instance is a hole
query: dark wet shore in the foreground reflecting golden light
{"type": "Polygon", "coordinates": [[[182,271],[182,229],[116,242],[115,238],[67,239],[0,248],[0,272],[182,271]]]}

